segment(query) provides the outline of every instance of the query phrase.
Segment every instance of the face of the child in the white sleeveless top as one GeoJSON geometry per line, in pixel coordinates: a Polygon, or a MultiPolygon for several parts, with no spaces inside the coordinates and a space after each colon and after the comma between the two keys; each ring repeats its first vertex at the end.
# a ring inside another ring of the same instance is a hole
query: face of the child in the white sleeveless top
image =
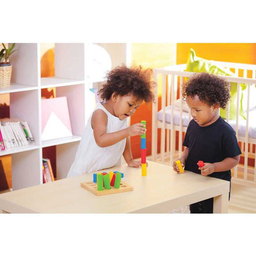
{"type": "Polygon", "coordinates": [[[138,99],[133,95],[116,95],[114,104],[114,115],[119,117],[120,120],[124,120],[126,117],[132,116],[136,109],[143,102],[142,99],[138,99]]]}

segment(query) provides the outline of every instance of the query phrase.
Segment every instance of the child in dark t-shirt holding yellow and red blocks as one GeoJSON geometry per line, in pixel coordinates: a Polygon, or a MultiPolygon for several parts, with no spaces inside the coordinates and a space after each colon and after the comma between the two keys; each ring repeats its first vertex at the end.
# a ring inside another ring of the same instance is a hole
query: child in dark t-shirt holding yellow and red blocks
{"type": "MultiPolygon", "coordinates": [[[[219,115],[219,108],[225,109],[230,99],[228,86],[225,79],[212,74],[201,73],[189,79],[183,97],[193,119],[179,159],[188,171],[230,182],[230,169],[238,164],[242,153],[234,129],[219,115]],[[204,166],[198,167],[198,161],[203,161],[204,166]]],[[[179,173],[177,160],[173,170],[179,173]]],[[[190,213],[212,213],[213,198],[191,204],[189,209],[190,213]]]]}

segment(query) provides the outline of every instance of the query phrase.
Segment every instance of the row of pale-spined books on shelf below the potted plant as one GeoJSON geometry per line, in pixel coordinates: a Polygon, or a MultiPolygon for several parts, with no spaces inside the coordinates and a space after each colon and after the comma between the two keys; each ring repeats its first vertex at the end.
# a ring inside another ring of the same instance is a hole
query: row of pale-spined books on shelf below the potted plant
{"type": "Polygon", "coordinates": [[[34,143],[28,123],[20,119],[0,119],[0,150],[34,143]]]}

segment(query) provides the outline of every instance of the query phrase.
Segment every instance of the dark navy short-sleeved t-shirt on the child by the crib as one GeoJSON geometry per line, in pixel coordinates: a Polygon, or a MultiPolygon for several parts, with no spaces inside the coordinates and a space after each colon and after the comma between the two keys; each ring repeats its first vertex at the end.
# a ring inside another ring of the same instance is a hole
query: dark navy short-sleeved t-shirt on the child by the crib
{"type": "MultiPolygon", "coordinates": [[[[220,162],[227,157],[242,154],[239,148],[236,132],[221,117],[213,124],[199,126],[192,119],[187,128],[183,146],[188,147],[188,157],[185,170],[201,174],[197,162],[220,162]]],[[[231,180],[231,171],[213,172],[209,176],[222,180],[231,180]]]]}

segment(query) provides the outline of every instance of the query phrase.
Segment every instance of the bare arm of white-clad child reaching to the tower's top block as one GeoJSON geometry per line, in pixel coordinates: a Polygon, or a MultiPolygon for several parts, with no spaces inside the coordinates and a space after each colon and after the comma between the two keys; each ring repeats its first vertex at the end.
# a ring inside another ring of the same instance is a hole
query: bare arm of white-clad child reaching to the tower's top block
{"type": "Polygon", "coordinates": [[[109,147],[127,138],[128,136],[142,135],[146,132],[144,125],[137,123],[127,127],[126,129],[107,133],[107,124],[107,114],[101,109],[95,110],[92,115],[91,125],[95,142],[99,147],[109,147]]]}

